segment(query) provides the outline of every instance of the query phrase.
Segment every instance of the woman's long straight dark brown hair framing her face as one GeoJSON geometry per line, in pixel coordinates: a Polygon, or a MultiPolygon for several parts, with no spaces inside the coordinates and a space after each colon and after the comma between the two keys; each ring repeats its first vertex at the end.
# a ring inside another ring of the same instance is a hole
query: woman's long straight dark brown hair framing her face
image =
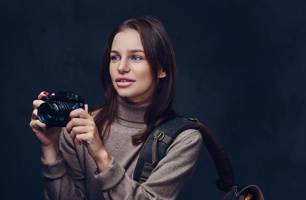
{"type": "Polygon", "coordinates": [[[115,35],[125,30],[135,30],[139,33],[153,80],[151,102],[144,117],[147,127],[132,136],[132,142],[136,145],[145,141],[159,124],[177,116],[172,108],[176,80],[175,55],[165,27],[152,16],[124,21],[111,31],[104,50],[101,71],[106,102],[98,108],[99,111],[94,116],[95,123],[104,138],[109,134],[110,126],[117,117],[118,93],[112,85],[109,74],[111,45],[115,35]],[[166,72],[166,77],[158,81],[161,70],[166,72]]]}

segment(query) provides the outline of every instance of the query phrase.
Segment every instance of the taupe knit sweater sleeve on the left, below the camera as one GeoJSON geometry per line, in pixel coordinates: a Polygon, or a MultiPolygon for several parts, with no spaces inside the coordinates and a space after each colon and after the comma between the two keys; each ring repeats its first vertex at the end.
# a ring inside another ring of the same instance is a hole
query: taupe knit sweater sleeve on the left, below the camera
{"type": "Polygon", "coordinates": [[[42,157],[45,179],[44,198],[46,200],[87,200],[85,196],[85,176],[76,154],[74,142],[68,133],[60,136],[60,155],[49,163],[42,157]],[[67,135],[65,135],[67,134],[67,135]],[[63,157],[69,156],[69,159],[63,157]],[[69,170],[73,169],[73,170],[69,170]]]}

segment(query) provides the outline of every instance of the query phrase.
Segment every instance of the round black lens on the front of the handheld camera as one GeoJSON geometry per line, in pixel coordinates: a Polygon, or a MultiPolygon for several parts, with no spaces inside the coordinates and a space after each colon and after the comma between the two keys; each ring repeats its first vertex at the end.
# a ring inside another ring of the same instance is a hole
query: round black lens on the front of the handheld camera
{"type": "Polygon", "coordinates": [[[69,115],[69,107],[61,101],[43,103],[38,108],[37,115],[38,119],[44,124],[63,126],[69,115]]]}

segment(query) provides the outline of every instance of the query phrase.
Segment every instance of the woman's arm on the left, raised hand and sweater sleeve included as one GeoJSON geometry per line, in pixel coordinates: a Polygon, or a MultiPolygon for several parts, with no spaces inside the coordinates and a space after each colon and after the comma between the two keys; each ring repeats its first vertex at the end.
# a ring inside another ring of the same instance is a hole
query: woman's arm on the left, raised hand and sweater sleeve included
{"type": "MultiPolygon", "coordinates": [[[[32,112],[30,127],[33,130],[35,136],[40,141],[42,146],[42,163],[43,163],[43,175],[45,177],[45,199],[71,199],[67,195],[71,194],[84,194],[84,187],[82,187],[82,176],[80,174],[80,168],[77,167],[76,174],[72,174],[73,178],[76,178],[75,182],[67,176],[65,162],[60,153],[60,144],[64,142],[63,137],[60,142],[60,135],[62,128],[60,127],[47,127],[44,123],[38,120],[38,107],[44,103],[41,99],[47,96],[48,92],[41,92],[38,96],[38,100],[33,101],[34,111],[32,112]],[[80,188],[77,192],[75,185],[80,188]]],[[[65,142],[66,143],[66,142],[65,142]]],[[[71,143],[70,143],[71,145],[71,143]]],[[[72,147],[72,145],[71,145],[72,147]]],[[[72,148],[67,148],[72,149],[72,148]]],[[[63,149],[64,150],[64,149],[63,149]]],[[[76,159],[75,151],[71,151],[71,156],[76,159]]],[[[76,165],[77,166],[77,165],[76,165]]],[[[83,178],[84,179],[84,178],[83,178]]],[[[83,183],[84,185],[84,183],[83,183]]],[[[78,195],[80,198],[84,195],[78,195]]],[[[77,198],[74,198],[77,199],[77,198]]]]}

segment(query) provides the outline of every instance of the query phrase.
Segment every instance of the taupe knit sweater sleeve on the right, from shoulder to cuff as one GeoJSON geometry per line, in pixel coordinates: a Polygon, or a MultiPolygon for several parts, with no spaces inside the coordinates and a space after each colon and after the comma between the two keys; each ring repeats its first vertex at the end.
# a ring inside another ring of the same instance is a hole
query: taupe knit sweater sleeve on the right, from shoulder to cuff
{"type": "Polygon", "coordinates": [[[201,147],[201,133],[186,130],[175,138],[146,182],[132,180],[113,157],[108,169],[96,172],[95,178],[106,200],[173,200],[190,179],[201,147]]]}

